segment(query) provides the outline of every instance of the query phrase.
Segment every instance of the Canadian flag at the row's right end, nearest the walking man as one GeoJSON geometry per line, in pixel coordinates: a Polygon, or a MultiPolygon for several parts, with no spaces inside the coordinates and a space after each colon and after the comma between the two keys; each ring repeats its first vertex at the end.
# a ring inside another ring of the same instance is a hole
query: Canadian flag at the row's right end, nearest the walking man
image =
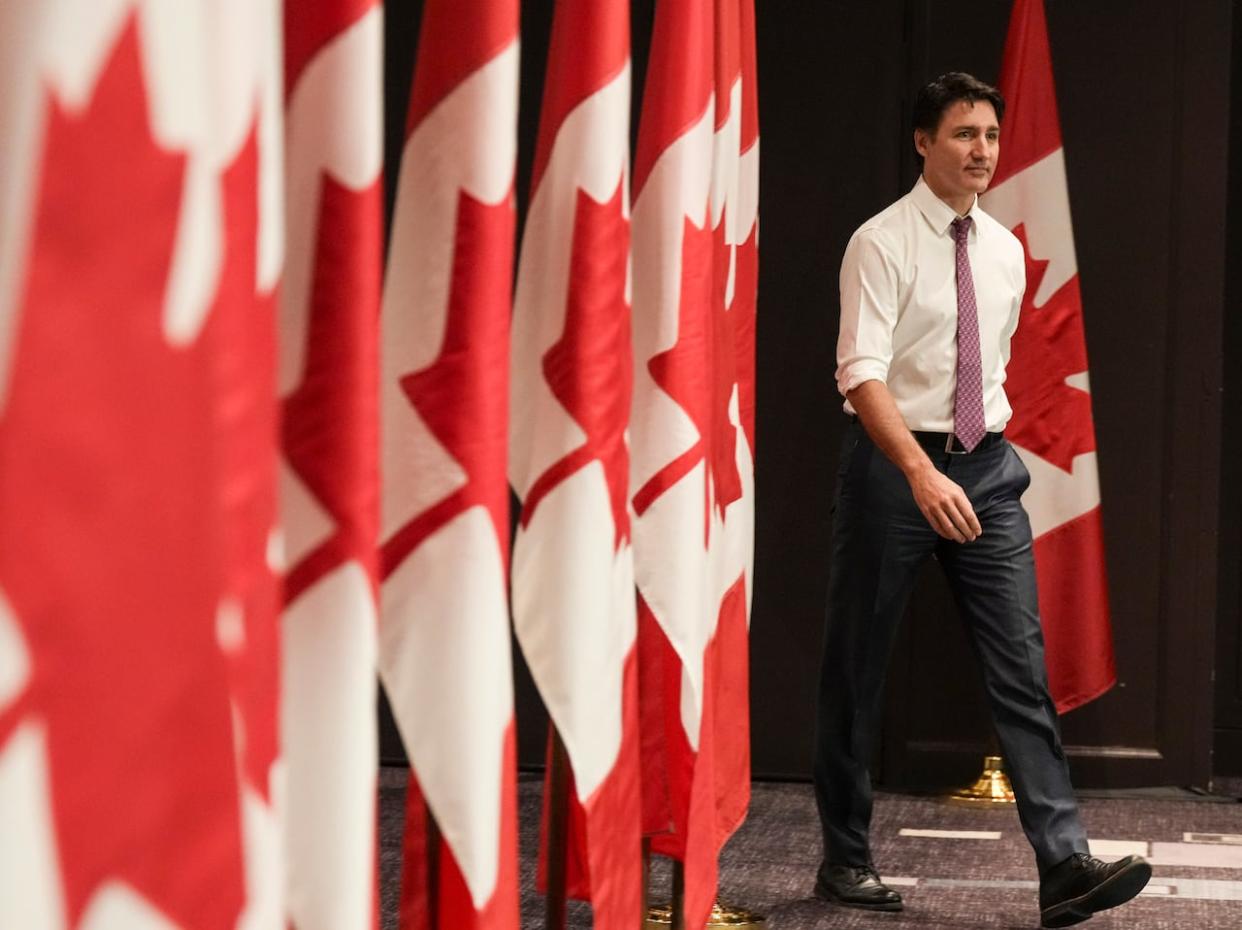
{"type": "Polygon", "coordinates": [[[635,572],[643,822],[684,862],[689,928],[750,797],[754,73],[749,0],[660,4],[635,166],[635,572]]]}

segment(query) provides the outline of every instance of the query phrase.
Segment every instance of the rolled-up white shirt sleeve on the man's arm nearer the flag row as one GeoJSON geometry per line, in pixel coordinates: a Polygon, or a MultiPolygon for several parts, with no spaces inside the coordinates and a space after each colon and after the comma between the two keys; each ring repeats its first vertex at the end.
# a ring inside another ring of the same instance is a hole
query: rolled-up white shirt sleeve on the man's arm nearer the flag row
{"type": "Polygon", "coordinates": [[[898,272],[879,230],[859,230],[841,260],[837,390],[888,380],[898,313],[898,272]]]}

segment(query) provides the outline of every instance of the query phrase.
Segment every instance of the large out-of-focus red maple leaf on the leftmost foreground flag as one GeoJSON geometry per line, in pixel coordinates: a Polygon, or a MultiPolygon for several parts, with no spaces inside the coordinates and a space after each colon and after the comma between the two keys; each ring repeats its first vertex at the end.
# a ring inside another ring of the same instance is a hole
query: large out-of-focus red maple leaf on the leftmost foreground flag
{"type": "Polygon", "coordinates": [[[50,104],[0,412],[0,586],[32,662],[0,741],[46,728],[71,925],[112,878],[185,928],[243,901],[214,335],[161,324],[184,171],[130,21],[86,109],[50,104]]]}

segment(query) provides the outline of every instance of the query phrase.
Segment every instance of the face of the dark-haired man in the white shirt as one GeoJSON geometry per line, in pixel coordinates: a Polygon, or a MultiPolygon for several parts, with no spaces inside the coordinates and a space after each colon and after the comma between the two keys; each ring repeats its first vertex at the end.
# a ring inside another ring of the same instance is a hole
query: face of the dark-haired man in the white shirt
{"type": "Polygon", "coordinates": [[[914,132],[923,176],[945,201],[964,201],[987,190],[1000,154],[1000,123],[986,101],[958,101],[940,115],[934,134],[914,132]]]}

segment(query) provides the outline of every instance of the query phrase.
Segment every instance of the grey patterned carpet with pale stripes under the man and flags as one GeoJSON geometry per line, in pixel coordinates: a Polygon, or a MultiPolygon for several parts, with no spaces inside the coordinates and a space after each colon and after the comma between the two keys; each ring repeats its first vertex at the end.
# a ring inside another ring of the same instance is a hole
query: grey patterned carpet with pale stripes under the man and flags
{"type": "MultiPolygon", "coordinates": [[[[534,888],[540,781],[519,783],[522,926],[544,930],[534,888]]],[[[1218,781],[1216,795],[1179,790],[1100,796],[1083,792],[1093,841],[1146,843],[1155,875],[1149,894],[1097,915],[1093,930],[1242,930],[1242,780],[1218,781]],[[1227,834],[1211,837],[1186,833],[1227,834]],[[1230,837],[1235,839],[1231,842],[1230,837]]],[[[405,770],[380,777],[383,929],[396,930],[405,770]]],[[[811,896],[820,860],[809,785],[756,783],[750,816],[722,857],[720,899],[768,916],[768,930],[1027,930],[1038,928],[1035,864],[1012,810],[951,807],[938,798],[879,793],[872,827],[877,865],[903,884],[899,914],[871,914],[811,896]],[[996,839],[903,836],[902,829],[1000,833],[996,839]]],[[[1120,854],[1120,848],[1118,848],[1120,854]]],[[[652,869],[653,901],[667,900],[669,868],[652,869]]],[[[570,930],[589,930],[590,909],[571,904],[570,930]]],[[[637,930],[637,929],[636,929],[637,930]]]]}

